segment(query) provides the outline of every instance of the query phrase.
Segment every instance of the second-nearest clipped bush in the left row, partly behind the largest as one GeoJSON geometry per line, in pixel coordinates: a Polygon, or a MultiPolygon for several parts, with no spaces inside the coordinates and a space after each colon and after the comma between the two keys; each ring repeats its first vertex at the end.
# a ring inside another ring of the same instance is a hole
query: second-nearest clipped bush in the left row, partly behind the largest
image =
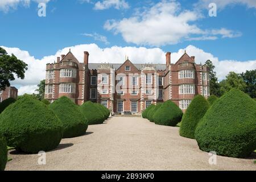
{"type": "Polygon", "coordinates": [[[49,108],[63,123],[63,138],[79,137],[85,134],[88,121],[79,107],[68,97],[60,97],[50,104],[49,108]]]}

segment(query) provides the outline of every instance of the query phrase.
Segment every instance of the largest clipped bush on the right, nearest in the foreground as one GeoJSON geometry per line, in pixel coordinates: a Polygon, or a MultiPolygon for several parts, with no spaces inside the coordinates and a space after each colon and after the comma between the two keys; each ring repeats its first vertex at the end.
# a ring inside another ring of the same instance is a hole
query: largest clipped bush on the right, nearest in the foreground
{"type": "Polygon", "coordinates": [[[195,138],[203,151],[243,158],[256,148],[256,103],[232,89],[219,98],[196,127],[195,138]]]}

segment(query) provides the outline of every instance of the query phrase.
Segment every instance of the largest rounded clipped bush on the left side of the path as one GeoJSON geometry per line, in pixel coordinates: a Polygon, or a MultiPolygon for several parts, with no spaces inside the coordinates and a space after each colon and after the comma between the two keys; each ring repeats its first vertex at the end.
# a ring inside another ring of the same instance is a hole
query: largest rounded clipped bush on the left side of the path
{"type": "Polygon", "coordinates": [[[8,146],[37,153],[59,145],[63,125],[48,106],[31,96],[23,96],[0,114],[0,133],[8,146]]]}

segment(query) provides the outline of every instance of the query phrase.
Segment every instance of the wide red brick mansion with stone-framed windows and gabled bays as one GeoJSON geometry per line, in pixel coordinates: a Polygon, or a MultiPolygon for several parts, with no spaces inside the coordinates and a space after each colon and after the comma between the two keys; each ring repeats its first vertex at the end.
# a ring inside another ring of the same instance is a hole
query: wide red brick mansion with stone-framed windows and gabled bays
{"type": "Polygon", "coordinates": [[[185,110],[193,97],[209,96],[208,68],[195,63],[187,53],[171,63],[166,53],[166,64],[89,63],[84,52],[80,63],[71,51],[47,64],[45,98],[54,101],[68,96],[76,104],[93,101],[105,105],[113,113],[141,113],[151,103],[174,101],[185,110]]]}

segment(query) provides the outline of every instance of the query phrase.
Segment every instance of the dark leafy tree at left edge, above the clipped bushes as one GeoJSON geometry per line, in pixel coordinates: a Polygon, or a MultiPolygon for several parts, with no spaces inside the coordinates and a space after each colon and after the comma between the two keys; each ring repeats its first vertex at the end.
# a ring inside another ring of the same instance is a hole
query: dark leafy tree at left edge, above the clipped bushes
{"type": "Polygon", "coordinates": [[[0,47],[0,89],[5,90],[10,86],[10,81],[15,80],[14,73],[18,78],[24,79],[27,64],[17,59],[13,54],[7,55],[5,49],[0,47]]]}

